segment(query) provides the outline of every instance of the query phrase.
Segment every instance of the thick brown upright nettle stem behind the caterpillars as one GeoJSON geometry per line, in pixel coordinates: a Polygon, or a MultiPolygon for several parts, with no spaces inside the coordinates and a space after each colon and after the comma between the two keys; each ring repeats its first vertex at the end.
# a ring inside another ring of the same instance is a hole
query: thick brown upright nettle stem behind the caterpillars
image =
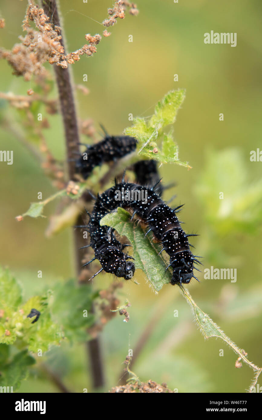
{"type": "MultiPolygon", "coordinates": [[[[60,19],[58,14],[58,4],[56,0],[42,0],[42,8],[46,16],[50,18],[53,26],[60,26],[60,19]]],[[[63,34],[61,31],[62,39],[61,45],[65,48],[63,34]]],[[[77,124],[77,112],[74,101],[74,91],[72,77],[69,68],[62,68],[54,65],[56,74],[56,84],[58,88],[59,102],[64,124],[64,134],[66,140],[66,159],[68,168],[68,178],[74,180],[75,164],[72,159],[76,157],[75,152],[79,152],[79,130],[77,124]]],[[[77,225],[82,224],[83,216],[80,214],[77,220],[77,225]]],[[[75,250],[75,270],[77,277],[80,273],[82,265],[82,255],[79,248],[85,245],[82,232],[79,229],[74,230],[74,250],[75,250]]],[[[93,379],[94,388],[104,385],[103,365],[101,358],[101,348],[99,339],[95,338],[87,342],[87,349],[90,358],[90,370],[93,379]]]]}

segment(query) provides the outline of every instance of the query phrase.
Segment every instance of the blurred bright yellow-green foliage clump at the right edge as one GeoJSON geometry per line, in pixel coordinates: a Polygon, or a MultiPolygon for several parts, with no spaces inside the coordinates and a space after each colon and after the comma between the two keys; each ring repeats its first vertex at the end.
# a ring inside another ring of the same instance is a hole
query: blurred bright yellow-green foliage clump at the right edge
{"type": "Polygon", "coordinates": [[[224,266],[233,263],[225,250],[225,236],[254,236],[261,231],[262,179],[250,179],[239,149],[209,150],[194,193],[205,220],[200,246],[206,259],[224,266]]]}

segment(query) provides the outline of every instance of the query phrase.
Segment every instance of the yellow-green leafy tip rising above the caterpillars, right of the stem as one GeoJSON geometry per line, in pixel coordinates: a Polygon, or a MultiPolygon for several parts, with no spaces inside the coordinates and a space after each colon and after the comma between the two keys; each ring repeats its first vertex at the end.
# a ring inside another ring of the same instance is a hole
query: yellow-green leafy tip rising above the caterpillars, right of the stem
{"type": "Polygon", "coordinates": [[[127,127],[124,133],[135,137],[143,143],[138,154],[157,160],[161,163],[177,163],[191,169],[187,162],[178,159],[178,147],[173,139],[173,132],[164,134],[164,128],[175,122],[178,109],[185,98],[185,90],[168,92],[161,102],[158,102],[155,113],[149,121],[145,118],[135,118],[132,127],[127,127]],[[162,139],[162,149],[158,143],[162,139]]]}

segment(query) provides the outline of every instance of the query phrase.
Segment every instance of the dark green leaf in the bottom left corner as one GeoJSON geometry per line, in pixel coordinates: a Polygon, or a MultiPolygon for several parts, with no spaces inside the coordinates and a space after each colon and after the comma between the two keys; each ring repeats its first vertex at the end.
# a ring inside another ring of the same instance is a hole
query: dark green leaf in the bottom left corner
{"type": "Polygon", "coordinates": [[[27,350],[17,353],[8,362],[0,362],[0,386],[13,386],[13,391],[16,391],[21,381],[27,378],[28,367],[34,363],[34,357],[30,356],[27,350]]]}

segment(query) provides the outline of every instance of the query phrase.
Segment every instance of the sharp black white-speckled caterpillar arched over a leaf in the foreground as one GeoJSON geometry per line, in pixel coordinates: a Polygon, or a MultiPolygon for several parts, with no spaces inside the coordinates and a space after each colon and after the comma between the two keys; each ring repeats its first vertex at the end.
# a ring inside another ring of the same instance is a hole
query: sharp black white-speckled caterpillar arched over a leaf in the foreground
{"type": "MultiPolygon", "coordinates": [[[[121,244],[116,239],[114,229],[109,228],[109,226],[100,226],[99,224],[104,215],[117,207],[131,208],[133,210],[132,218],[137,214],[140,219],[145,220],[149,226],[148,232],[152,231],[155,238],[162,242],[163,248],[160,253],[162,251],[167,252],[170,256],[167,268],[171,266],[173,269],[171,284],[181,285],[181,283],[189,283],[192,277],[196,278],[193,275],[193,269],[195,268],[193,264],[194,262],[201,264],[201,262],[196,260],[198,256],[192,254],[188,243],[188,236],[196,235],[185,234],[175,214],[175,211],[179,210],[183,205],[171,209],[153,191],[155,187],[156,185],[150,189],[145,186],[126,183],[123,177],[122,183],[117,184],[115,182],[113,187],[103,192],[100,196],[98,195],[93,212],[89,215],[90,220],[85,226],[85,228],[88,228],[91,236],[90,245],[86,247],[91,246],[95,252],[95,257],[85,265],[97,259],[102,266],[91,278],[97,276],[102,270],[117,277],[123,277],[126,280],[130,279],[135,273],[134,263],[128,261],[130,258],[134,258],[123,252],[127,244],[121,244]],[[117,201],[116,197],[119,196],[119,192],[123,191],[127,199],[122,194],[124,201],[117,201]],[[140,192],[141,197],[146,196],[147,201],[130,199],[129,197],[132,197],[135,191],[140,192]]],[[[196,268],[196,270],[198,269],[196,268]]],[[[198,279],[196,278],[196,280],[198,279]]]]}

